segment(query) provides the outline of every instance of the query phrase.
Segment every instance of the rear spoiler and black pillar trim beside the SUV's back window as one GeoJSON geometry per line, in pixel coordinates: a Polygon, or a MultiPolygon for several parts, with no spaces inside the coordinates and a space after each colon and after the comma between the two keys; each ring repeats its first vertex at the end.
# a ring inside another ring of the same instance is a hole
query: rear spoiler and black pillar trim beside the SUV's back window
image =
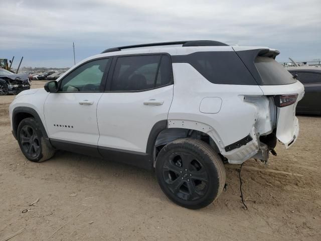
{"type": "Polygon", "coordinates": [[[255,58],[257,56],[262,56],[275,59],[275,57],[280,54],[278,50],[269,48],[244,49],[243,47],[233,47],[233,49],[246,68],[250,71],[258,85],[261,85],[263,81],[261,75],[255,67],[255,58]]]}

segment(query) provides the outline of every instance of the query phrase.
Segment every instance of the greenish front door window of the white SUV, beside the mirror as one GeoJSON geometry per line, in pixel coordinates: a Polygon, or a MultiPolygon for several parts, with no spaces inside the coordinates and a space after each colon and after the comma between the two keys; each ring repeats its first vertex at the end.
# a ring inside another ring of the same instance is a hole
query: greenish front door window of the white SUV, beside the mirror
{"type": "Polygon", "coordinates": [[[81,65],[63,78],[59,91],[99,91],[109,59],[98,59],[81,65]]]}

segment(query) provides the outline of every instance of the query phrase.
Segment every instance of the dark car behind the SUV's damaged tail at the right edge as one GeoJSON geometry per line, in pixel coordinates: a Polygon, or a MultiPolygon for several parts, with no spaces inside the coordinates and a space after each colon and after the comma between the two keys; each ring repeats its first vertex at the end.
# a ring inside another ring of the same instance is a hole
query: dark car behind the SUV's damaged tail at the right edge
{"type": "Polygon", "coordinates": [[[321,67],[286,68],[304,85],[304,97],[297,103],[296,113],[321,114],[321,67]]]}

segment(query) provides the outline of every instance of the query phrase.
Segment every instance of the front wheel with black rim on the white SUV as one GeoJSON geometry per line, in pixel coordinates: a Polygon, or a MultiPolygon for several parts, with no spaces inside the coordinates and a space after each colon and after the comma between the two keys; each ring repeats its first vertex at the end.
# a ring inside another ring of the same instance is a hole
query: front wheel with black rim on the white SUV
{"type": "Polygon", "coordinates": [[[55,154],[54,148],[44,139],[39,123],[32,117],[21,121],[17,139],[22,153],[30,161],[43,162],[55,154]]]}

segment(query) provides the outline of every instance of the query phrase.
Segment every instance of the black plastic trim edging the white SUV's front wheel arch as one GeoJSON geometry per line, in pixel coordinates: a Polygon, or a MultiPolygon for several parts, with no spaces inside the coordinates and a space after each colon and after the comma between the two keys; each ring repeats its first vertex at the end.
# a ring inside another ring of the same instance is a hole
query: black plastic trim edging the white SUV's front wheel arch
{"type": "Polygon", "coordinates": [[[16,108],[14,108],[14,110],[12,112],[13,135],[16,139],[17,139],[18,126],[19,126],[19,123],[17,123],[17,116],[19,113],[28,113],[28,114],[31,114],[32,116],[34,116],[34,118],[36,119],[36,121],[40,125],[40,129],[42,131],[43,137],[48,140],[48,135],[47,135],[46,129],[44,127],[44,124],[42,123],[42,120],[41,120],[38,112],[35,109],[33,109],[31,107],[27,107],[27,106],[18,106],[16,108]]]}

